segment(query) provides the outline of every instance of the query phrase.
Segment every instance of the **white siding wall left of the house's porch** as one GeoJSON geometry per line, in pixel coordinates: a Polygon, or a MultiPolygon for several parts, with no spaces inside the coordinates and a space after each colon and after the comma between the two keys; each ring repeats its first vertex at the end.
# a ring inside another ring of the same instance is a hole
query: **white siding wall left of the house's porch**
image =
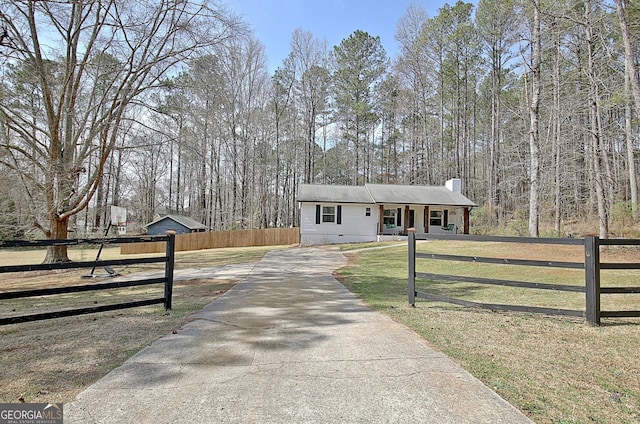
{"type": "MultiPolygon", "coordinates": [[[[316,204],[302,203],[300,208],[300,244],[358,243],[377,240],[378,208],[371,204],[342,204],[342,222],[316,224],[316,204]],[[366,216],[369,208],[370,216],[366,216]]],[[[319,203],[334,206],[337,203],[319,203]]]]}

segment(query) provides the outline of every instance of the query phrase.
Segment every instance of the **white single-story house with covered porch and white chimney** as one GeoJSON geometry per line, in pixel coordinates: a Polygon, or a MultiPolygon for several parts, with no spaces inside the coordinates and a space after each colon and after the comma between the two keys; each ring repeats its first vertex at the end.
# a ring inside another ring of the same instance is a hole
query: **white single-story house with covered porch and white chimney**
{"type": "Polygon", "coordinates": [[[460,179],[445,186],[301,184],[300,244],[357,243],[418,233],[468,234],[477,205],[461,193],[460,179]]]}

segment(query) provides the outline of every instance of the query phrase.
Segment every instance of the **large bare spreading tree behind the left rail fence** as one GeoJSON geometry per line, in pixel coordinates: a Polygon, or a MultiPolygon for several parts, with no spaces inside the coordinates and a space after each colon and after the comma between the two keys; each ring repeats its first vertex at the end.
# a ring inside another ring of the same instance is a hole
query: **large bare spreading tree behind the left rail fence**
{"type": "MultiPolygon", "coordinates": [[[[66,238],[94,196],[130,106],[241,30],[207,0],[7,0],[0,25],[0,160],[20,175],[49,239],[66,238]]],[[[66,247],[45,261],[68,261],[66,247]]]]}

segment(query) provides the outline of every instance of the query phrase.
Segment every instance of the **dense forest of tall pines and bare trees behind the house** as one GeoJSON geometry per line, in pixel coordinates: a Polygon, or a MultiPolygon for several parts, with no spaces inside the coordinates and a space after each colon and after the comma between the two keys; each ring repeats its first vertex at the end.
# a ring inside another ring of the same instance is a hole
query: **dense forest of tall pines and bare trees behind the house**
{"type": "Polygon", "coordinates": [[[296,226],[301,183],[453,177],[472,231],[638,220],[637,2],[416,3],[396,57],[297,29],[273,73],[220,5],[133,3],[0,6],[0,238],[98,234],[112,204],[296,226]]]}

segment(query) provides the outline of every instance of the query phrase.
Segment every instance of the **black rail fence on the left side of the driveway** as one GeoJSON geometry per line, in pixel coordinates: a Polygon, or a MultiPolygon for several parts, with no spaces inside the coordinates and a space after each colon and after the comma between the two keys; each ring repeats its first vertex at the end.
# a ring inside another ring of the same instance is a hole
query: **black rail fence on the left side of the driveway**
{"type": "MultiPolygon", "coordinates": [[[[134,302],[122,302],[116,304],[107,304],[87,308],[64,309],[54,312],[45,312],[32,315],[19,315],[0,318],[0,325],[17,324],[20,322],[39,321],[51,318],[69,317],[75,315],[85,315],[96,312],[113,311],[117,309],[135,308],[138,306],[154,305],[158,303],[164,304],[165,309],[171,309],[171,298],[173,296],[173,269],[174,269],[174,253],[175,253],[175,234],[167,234],[166,236],[154,237],[127,237],[112,239],[77,239],[77,240],[38,240],[38,241],[22,241],[10,240],[0,241],[0,249],[2,248],[37,248],[48,247],[53,245],[86,245],[99,244],[102,249],[104,244],[128,244],[128,243],[159,243],[164,246],[166,255],[160,257],[133,258],[133,259],[113,259],[99,260],[88,262],[65,262],[54,264],[37,264],[37,265],[9,265],[0,266],[0,274],[21,273],[29,271],[52,271],[60,269],[81,269],[97,267],[111,267],[114,265],[133,265],[133,264],[150,264],[164,262],[165,272],[163,277],[147,278],[133,281],[109,282],[98,284],[84,284],[68,287],[56,287],[47,289],[24,290],[0,292],[0,302],[9,299],[19,299],[28,297],[53,296],[67,293],[79,293],[96,290],[119,289],[124,287],[146,286],[150,284],[164,284],[164,296],[160,298],[145,299],[134,302]]],[[[2,287],[0,287],[1,289],[2,287]]]]}

